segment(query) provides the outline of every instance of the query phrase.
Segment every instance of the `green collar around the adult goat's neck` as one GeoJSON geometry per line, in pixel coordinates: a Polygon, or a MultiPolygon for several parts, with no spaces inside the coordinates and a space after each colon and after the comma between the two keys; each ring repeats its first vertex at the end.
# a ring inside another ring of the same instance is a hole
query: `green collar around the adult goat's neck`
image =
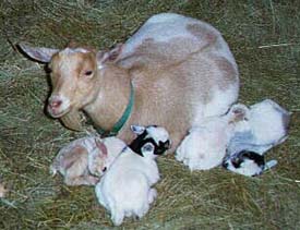
{"type": "Polygon", "coordinates": [[[110,131],[104,131],[101,128],[97,126],[92,121],[92,124],[94,125],[95,130],[97,131],[98,134],[100,134],[101,137],[116,136],[118,134],[118,132],[123,128],[125,122],[128,121],[128,119],[131,114],[132,108],[133,108],[133,104],[134,104],[134,88],[133,88],[131,81],[130,81],[130,87],[131,87],[130,99],[129,99],[128,106],[125,108],[125,111],[122,114],[122,117],[119,119],[119,121],[117,121],[117,123],[112,126],[112,129],[110,131]]]}

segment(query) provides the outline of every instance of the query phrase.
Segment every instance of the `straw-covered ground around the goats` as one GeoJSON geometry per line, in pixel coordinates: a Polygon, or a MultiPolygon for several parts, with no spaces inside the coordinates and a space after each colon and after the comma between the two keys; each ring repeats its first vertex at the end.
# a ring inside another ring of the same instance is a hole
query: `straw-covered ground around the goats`
{"type": "Polygon", "coordinates": [[[49,165],[84,133],[45,114],[44,66],[14,44],[62,48],[68,41],[106,49],[151,15],[177,12],[225,36],[241,75],[240,101],[271,98],[292,111],[290,136],[269,150],[278,166],[260,178],[216,168],[190,172],[173,156],[158,160],[158,198],[124,229],[300,229],[300,2],[220,0],[4,0],[0,2],[0,229],[110,229],[93,187],[68,187],[49,165]],[[68,3],[67,3],[68,2],[68,3]],[[233,3],[235,2],[235,3],[233,3]]]}

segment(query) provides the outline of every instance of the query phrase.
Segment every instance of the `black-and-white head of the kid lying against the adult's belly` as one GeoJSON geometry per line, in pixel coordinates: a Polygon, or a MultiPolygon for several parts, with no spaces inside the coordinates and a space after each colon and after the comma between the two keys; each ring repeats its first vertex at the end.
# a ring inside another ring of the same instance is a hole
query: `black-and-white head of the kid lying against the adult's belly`
{"type": "Polygon", "coordinates": [[[149,125],[132,125],[131,130],[137,136],[129,145],[136,154],[144,156],[145,153],[161,155],[171,146],[169,133],[161,126],[149,125]],[[143,154],[144,153],[144,154],[143,154]]]}

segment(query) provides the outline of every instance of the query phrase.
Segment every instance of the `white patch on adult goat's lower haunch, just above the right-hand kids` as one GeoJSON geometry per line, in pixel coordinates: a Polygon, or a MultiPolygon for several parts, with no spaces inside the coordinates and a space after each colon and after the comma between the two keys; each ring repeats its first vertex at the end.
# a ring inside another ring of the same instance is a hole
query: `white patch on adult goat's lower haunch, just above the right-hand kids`
{"type": "Polygon", "coordinates": [[[211,92],[214,92],[212,100],[206,105],[199,104],[192,126],[201,124],[204,118],[225,114],[232,101],[237,100],[239,94],[237,86],[230,86],[227,90],[219,89],[216,86],[211,92]]]}

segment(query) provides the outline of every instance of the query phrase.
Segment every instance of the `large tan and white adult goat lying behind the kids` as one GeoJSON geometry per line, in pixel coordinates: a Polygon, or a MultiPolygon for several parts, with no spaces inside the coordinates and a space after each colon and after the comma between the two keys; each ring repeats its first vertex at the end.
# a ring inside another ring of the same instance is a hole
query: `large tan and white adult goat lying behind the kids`
{"type": "Polygon", "coordinates": [[[130,124],[155,123],[169,131],[173,150],[203,117],[225,113],[238,97],[238,68],[221,34],[179,14],[152,16],[108,52],[20,47],[49,64],[53,90],[48,111],[70,129],[81,128],[84,111],[95,125],[110,131],[134,92],[131,113],[118,133],[127,143],[133,140],[130,124]]]}

